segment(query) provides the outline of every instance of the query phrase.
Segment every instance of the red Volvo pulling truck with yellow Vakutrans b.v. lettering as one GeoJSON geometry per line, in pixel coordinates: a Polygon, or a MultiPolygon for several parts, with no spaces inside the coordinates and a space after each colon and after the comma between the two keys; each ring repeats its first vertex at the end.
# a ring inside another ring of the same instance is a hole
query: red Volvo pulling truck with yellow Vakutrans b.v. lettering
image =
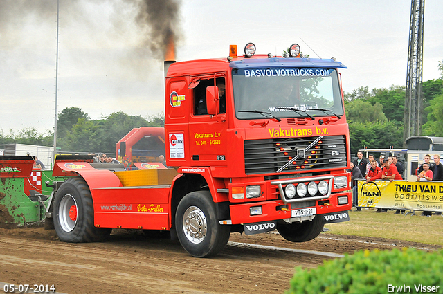
{"type": "MultiPolygon", "coordinates": [[[[112,228],[170,231],[194,257],[215,255],[230,232],[278,230],[314,239],[348,221],[350,139],[334,59],[255,55],[165,66],[168,168],[110,171],[56,160],[46,217],[60,240],[101,240],[112,228]]],[[[166,64],[166,63],[165,63],[166,64]]],[[[163,139],[162,139],[163,138],[163,139]]],[[[120,142],[121,143],[121,142],[120,142]]],[[[118,146],[120,156],[125,144],[118,146]]],[[[159,156],[159,153],[153,155],[159,156]]]]}

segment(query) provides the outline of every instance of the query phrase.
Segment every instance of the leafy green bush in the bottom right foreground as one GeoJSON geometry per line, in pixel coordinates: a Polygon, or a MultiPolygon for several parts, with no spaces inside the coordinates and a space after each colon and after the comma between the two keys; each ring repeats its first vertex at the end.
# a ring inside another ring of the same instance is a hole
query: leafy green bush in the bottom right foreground
{"type": "Polygon", "coordinates": [[[425,252],[411,248],[359,251],[341,259],[325,261],[318,268],[296,268],[291,289],[287,291],[294,294],[401,292],[443,293],[443,251],[425,252]],[[420,285],[435,288],[426,288],[427,291],[418,288],[417,291],[415,287],[420,285]]]}

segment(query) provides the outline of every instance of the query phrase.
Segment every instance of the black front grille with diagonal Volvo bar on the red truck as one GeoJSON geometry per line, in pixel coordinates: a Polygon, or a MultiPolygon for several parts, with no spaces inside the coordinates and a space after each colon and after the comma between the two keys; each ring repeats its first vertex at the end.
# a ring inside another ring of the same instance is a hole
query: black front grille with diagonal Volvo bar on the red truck
{"type": "Polygon", "coordinates": [[[299,156],[280,172],[301,172],[311,169],[346,167],[345,136],[280,138],[244,141],[244,168],[246,174],[278,172],[282,166],[299,156]]]}

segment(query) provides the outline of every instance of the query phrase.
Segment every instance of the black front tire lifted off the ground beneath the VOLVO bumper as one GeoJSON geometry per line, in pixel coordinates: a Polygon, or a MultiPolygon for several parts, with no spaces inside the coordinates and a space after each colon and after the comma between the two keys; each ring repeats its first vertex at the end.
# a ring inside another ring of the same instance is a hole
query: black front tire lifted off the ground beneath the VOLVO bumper
{"type": "Polygon", "coordinates": [[[312,221],[277,223],[277,230],[284,239],[291,242],[305,242],[317,237],[325,226],[323,215],[316,215],[312,221]]]}

